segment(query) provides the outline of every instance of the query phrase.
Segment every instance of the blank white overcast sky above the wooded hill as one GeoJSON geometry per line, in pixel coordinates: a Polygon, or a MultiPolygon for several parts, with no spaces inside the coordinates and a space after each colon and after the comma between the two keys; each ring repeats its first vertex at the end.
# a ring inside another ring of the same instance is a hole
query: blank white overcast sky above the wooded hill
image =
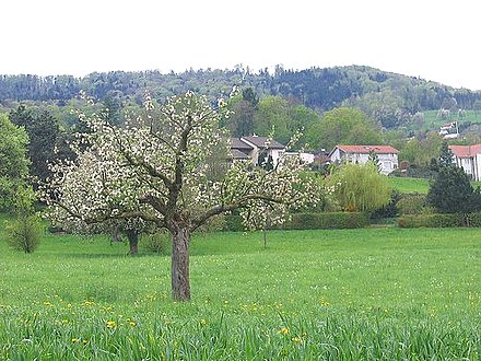
{"type": "Polygon", "coordinates": [[[481,90],[480,10],[477,0],[2,0],[0,73],[363,65],[481,90]]]}

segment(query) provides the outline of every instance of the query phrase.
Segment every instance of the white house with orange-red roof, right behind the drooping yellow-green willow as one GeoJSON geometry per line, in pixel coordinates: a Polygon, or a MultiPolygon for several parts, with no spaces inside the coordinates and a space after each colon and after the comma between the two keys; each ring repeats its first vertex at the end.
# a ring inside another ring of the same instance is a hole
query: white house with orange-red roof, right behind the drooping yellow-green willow
{"type": "Polygon", "coordinates": [[[329,153],[329,158],[331,163],[364,164],[369,160],[371,153],[376,154],[382,174],[389,174],[398,168],[399,151],[390,145],[336,145],[329,153]]]}

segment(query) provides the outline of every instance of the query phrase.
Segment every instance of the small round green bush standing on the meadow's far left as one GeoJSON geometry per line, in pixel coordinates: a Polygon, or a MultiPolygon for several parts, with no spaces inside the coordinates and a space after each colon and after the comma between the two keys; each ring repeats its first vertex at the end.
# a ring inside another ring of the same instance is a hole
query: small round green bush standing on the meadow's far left
{"type": "Polygon", "coordinates": [[[33,253],[40,243],[42,226],[34,214],[20,216],[9,222],[5,233],[12,248],[33,253]]]}

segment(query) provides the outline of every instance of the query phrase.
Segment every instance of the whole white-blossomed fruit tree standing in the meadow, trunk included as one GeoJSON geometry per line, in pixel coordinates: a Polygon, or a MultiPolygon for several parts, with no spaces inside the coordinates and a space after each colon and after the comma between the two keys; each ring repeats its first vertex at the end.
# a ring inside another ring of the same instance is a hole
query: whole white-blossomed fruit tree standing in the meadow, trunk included
{"type": "Polygon", "coordinates": [[[189,241],[192,232],[222,213],[239,209],[246,226],[282,223],[293,207],[316,197],[303,180],[302,164],[286,158],[273,170],[234,162],[212,178],[212,154],[228,149],[219,128],[224,102],[213,108],[191,92],[116,127],[102,116],[84,117],[90,131],[72,145],[75,162],[52,166],[44,189],[48,217],[56,223],[96,224],[140,219],[172,235],[172,293],[190,299],[189,241]]]}

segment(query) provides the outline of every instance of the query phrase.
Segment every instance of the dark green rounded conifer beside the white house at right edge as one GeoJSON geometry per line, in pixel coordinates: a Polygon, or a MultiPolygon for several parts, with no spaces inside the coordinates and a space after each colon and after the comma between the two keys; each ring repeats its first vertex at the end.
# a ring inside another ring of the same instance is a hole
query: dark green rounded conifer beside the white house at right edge
{"type": "Polygon", "coordinates": [[[431,184],[427,201],[442,213],[469,213],[481,206],[468,175],[457,166],[443,166],[431,184]]]}

